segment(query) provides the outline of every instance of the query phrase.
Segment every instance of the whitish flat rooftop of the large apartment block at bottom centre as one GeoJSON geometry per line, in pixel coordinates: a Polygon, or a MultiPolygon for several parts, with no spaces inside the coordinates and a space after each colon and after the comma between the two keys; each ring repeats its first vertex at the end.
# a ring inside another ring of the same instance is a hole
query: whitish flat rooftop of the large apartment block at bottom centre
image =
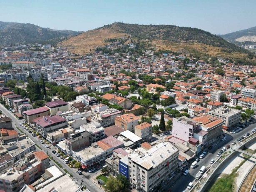
{"type": "Polygon", "coordinates": [[[170,142],[161,142],[149,149],[146,153],[135,152],[128,155],[128,157],[141,167],[149,170],[151,167],[157,167],[176,152],[178,152],[178,149],[170,142]]]}

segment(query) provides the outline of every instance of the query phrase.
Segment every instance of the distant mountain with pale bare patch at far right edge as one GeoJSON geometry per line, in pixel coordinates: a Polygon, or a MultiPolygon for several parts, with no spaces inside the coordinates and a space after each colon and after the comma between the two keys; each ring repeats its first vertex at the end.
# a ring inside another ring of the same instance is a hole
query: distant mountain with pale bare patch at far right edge
{"type": "Polygon", "coordinates": [[[231,32],[226,35],[219,35],[228,42],[236,45],[255,45],[256,44],[256,27],[249,29],[231,32]]]}

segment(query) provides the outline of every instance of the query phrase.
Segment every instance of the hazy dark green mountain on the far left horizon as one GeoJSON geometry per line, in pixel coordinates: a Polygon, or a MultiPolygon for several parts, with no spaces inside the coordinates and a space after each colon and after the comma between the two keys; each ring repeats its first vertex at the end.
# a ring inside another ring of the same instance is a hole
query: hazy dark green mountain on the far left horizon
{"type": "Polygon", "coordinates": [[[15,43],[56,43],[80,34],[78,31],[53,30],[30,23],[0,21],[0,45],[15,43]]]}

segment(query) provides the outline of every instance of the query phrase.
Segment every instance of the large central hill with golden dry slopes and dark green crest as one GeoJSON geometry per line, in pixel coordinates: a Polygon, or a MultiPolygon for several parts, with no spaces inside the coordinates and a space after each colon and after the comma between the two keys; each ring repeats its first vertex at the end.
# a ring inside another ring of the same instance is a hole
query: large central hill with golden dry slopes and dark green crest
{"type": "Polygon", "coordinates": [[[227,42],[223,38],[197,28],[174,25],[136,25],[116,22],[95,30],[89,30],[59,45],[71,52],[85,54],[96,47],[108,44],[109,38],[126,37],[129,39],[148,40],[157,50],[172,50],[196,56],[221,56],[241,58],[247,51],[227,42]]]}

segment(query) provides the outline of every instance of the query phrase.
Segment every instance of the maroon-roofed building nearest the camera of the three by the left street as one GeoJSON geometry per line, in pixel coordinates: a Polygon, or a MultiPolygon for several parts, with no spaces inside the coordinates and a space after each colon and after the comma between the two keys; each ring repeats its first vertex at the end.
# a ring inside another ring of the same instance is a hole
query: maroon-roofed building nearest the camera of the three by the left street
{"type": "Polygon", "coordinates": [[[60,128],[64,128],[68,125],[67,120],[59,115],[47,115],[44,117],[38,117],[33,120],[35,127],[47,135],[47,132],[51,132],[60,128]]]}

